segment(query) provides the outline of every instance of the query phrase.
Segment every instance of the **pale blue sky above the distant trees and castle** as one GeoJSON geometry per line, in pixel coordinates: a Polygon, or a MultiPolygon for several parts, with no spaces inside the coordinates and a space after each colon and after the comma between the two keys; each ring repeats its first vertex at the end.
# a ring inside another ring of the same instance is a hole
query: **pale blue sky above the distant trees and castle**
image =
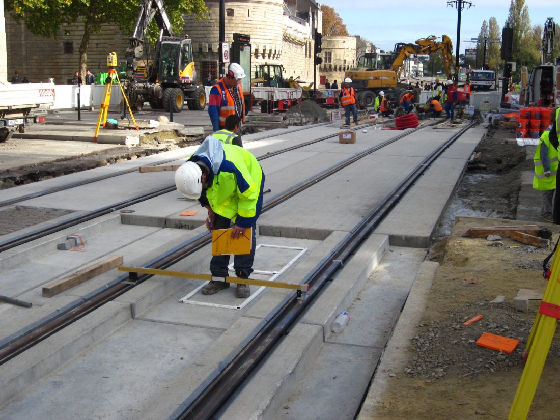
{"type": "MultiPolygon", "coordinates": [[[[525,0],[529,7],[531,26],[544,26],[548,17],[560,23],[560,8],[552,6],[558,0],[525,0]],[[557,16],[554,16],[556,13],[557,16]]],[[[473,48],[471,38],[477,38],[482,22],[495,17],[501,30],[510,11],[511,0],[472,0],[472,7],[461,11],[460,51],[473,48]],[[464,42],[469,41],[469,42],[464,42]]],[[[319,4],[333,7],[342,18],[350,35],[361,35],[377,48],[391,51],[396,43],[413,43],[430,35],[446,34],[457,51],[457,18],[455,7],[446,0],[375,1],[325,0],[319,4]]],[[[501,36],[501,35],[500,35],[501,36]]]]}

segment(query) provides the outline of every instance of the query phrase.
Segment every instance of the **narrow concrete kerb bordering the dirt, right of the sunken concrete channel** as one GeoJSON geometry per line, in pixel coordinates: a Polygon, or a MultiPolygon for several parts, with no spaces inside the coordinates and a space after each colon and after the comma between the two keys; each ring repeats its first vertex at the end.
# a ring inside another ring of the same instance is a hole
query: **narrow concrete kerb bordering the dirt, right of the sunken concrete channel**
{"type": "Polygon", "coordinates": [[[378,410],[383,410],[386,407],[385,392],[389,389],[389,381],[398,380],[399,375],[405,375],[403,365],[407,362],[406,354],[410,337],[414,336],[418,318],[422,316],[426,307],[428,294],[438,266],[438,263],[429,261],[424,261],[420,265],[407,302],[393,330],[393,335],[391,335],[383,351],[374,380],[370,385],[357,420],[377,418],[380,414],[378,410]]]}

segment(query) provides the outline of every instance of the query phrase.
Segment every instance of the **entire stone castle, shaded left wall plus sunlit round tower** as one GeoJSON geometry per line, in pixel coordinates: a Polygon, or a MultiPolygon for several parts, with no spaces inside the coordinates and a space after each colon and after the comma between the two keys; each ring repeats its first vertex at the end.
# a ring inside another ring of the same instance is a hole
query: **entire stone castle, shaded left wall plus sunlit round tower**
{"type": "MultiPolygon", "coordinates": [[[[226,2],[225,40],[232,34],[251,36],[253,67],[260,63],[283,64],[286,77],[300,76],[312,81],[314,73],[313,33],[320,31],[321,11],[314,0],[228,0],[226,2]]],[[[184,33],[193,39],[195,68],[199,79],[211,73],[217,77],[219,40],[219,1],[208,0],[209,20],[197,22],[185,16],[184,33]]],[[[78,70],[83,25],[76,23],[60,30],[57,38],[31,34],[23,24],[6,14],[7,73],[16,70],[32,82],[54,78],[63,84],[78,70]]],[[[128,47],[130,34],[116,26],[103,25],[100,34],[91,36],[87,68],[92,73],[107,71],[107,54],[116,52],[120,60],[128,47]]],[[[146,53],[147,48],[144,48],[146,53]]],[[[152,53],[154,49],[152,46],[152,53]]],[[[254,77],[254,70],[251,71],[254,77]]]]}

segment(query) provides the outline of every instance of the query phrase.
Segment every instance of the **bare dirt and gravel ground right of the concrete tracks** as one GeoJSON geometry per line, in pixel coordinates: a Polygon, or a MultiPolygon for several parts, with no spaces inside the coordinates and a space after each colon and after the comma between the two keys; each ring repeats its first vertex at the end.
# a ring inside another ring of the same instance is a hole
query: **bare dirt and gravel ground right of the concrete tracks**
{"type": "MultiPolygon", "coordinates": [[[[408,328],[385,349],[362,420],[504,419],[510,412],[524,369],[522,353],[540,305],[538,295],[547,286],[543,260],[552,248],[508,238],[496,245],[461,235],[471,227],[541,223],[552,231],[553,246],[560,232],[559,226],[539,217],[540,195],[530,184],[535,147],[517,146],[509,130],[489,134],[478,147],[481,161],[465,174],[447,226],[442,226],[450,235],[436,241],[427,255],[440,265],[426,299],[414,308],[417,317],[408,328]],[[536,297],[526,312],[512,304],[522,289],[536,297]],[[505,297],[503,304],[491,303],[497,296],[505,297]],[[462,325],[476,315],[484,318],[462,325]],[[511,354],[500,353],[475,344],[483,332],[520,343],[511,354]]],[[[556,336],[529,419],[558,418],[559,356],[556,336]]]]}

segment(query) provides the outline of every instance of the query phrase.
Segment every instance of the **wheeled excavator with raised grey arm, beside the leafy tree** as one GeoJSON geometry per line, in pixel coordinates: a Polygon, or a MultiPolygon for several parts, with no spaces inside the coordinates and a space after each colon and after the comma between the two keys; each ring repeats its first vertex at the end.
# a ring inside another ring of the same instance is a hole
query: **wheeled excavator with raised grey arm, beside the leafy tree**
{"type": "Polygon", "coordinates": [[[125,54],[127,78],[122,81],[128,102],[140,110],[144,102],[152,109],[180,112],[206,108],[206,91],[196,82],[193,43],[171,29],[163,0],[141,0],[130,46],[125,54]],[[144,57],[144,38],[155,19],[160,29],[153,59],[144,57]]]}

